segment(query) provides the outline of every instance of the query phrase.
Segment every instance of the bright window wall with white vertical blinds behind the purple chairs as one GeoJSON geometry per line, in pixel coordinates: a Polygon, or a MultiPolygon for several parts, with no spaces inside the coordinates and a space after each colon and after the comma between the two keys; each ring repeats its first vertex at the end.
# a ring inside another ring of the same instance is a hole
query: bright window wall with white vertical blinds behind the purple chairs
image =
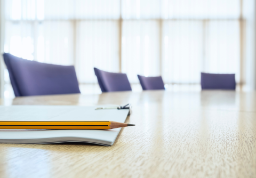
{"type": "Polygon", "coordinates": [[[14,98],[2,54],[74,65],[82,94],[101,90],[93,67],[163,77],[201,90],[201,72],[256,88],[254,0],[0,0],[1,97],[14,98]]]}

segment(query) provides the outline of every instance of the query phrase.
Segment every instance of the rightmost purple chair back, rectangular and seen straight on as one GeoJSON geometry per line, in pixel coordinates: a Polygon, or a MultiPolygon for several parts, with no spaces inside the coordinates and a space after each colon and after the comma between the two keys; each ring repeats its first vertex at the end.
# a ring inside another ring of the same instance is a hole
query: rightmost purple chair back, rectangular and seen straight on
{"type": "Polygon", "coordinates": [[[202,90],[236,90],[235,74],[207,74],[201,72],[201,86],[202,90]]]}

